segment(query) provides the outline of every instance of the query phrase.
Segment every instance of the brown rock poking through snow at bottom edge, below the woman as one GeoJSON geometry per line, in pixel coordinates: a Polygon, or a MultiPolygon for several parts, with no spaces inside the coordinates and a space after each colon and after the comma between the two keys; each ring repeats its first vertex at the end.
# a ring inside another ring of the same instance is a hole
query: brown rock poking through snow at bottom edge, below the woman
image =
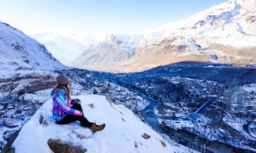
{"type": "Polygon", "coordinates": [[[54,153],[84,153],[85,148],[74,146],[73,143],[65,143],[60,139],[49,139],[48,145],[54,153]]]}

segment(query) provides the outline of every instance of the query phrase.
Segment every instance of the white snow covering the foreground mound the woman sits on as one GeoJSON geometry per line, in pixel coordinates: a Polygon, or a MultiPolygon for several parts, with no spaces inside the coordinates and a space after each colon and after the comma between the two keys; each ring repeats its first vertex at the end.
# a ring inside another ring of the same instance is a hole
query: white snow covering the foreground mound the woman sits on
{"type": "MultiPolygon", "coordinates": [[[[62,139],[81,145],[89,153],[174,152],[170,143],[124,106],[111,104],[105,96],[86,95],[74,98],[82,100],[82,109],[88,120],[106,124],[103,131],[93,134],[89,128],[82,128],[78,123],[54,124],[50,110],[52,100],[47,100],[19,132],[13,143],[15,152],[51,152],[47,146],[48,139],[62,139]],[[90,108],[89,104],[94,104],[94,108],[90,108]],[[46,119],[47,125],[39,124],[39,116],[46,119]],[[150,139],[144,139],[144,133],[150,135],[150,139]],[[82,139],[78,135],[83,135],[82,139]],[[166,147],[162,146],[161,141],[166,143],[166,147]]],[[[178,151],[182,149],[178,148],[178,151]]]]}

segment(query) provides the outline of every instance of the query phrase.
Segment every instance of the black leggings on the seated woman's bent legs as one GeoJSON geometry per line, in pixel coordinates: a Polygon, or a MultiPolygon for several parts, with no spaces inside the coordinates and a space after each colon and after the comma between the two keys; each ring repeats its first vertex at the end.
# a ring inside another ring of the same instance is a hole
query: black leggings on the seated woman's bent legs
{"type": "MultiPolygon", "coordinates": [[[[82,107],[80,104],[73,104],[71,106],[71,108],[73,109],[76,109],[78,111],[81,111],[82,112],[82,107]]],[[[82,113],[83,114],[83,113],[82,113]]],[[[75,121],[79,121],[80,122],[80,125],[82,127],[88,127],[90,128],[91,126],[93,126],[93,123],[90,123],[85,116],[74,116],[74,115],[70,115],[70,114],[67,114],[62,120],[59,120],[56,122],[56,124],[70,124],[72,122],[75,122],[75,121]]]]}

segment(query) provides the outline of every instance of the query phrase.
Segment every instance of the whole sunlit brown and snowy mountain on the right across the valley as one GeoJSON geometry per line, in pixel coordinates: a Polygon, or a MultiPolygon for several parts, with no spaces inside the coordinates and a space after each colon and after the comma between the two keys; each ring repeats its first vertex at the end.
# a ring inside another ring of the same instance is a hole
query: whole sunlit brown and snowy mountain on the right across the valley
{"type": "Polygon", "coordinates": [[[110,72],[137,72],[178,61],[253,65],[255,8],[254,0],[230,0],[130,39],[112,36],[86,50],[72,65],[110,72]]]}

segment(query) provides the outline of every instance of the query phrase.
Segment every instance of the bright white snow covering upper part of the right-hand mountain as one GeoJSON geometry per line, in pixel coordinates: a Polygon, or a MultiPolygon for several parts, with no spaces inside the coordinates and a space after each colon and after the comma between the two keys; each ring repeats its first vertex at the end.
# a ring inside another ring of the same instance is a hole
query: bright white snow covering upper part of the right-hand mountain
{"type": "MultiPolygon", "coordinates": [[[[178,35],[194,37],[200,45],[209,45],[209,43],[215,42],[235,47],[254,46],[255,37],[248,37],[246,33],[241,33],[241,29],[245,29],[243,27],[249,26],[244,20],[248,11],[254,12],[254,6],[253,0],[224,2],[194,14],[190,18],[169,23],[142,34],[147,37],[147,40],[178,35]],[[227,36],[231,37],[227,39],[227,36]]],[[[248,33],[254,33],[254,31],[255,29],[248,29],[248,33]]]]}

